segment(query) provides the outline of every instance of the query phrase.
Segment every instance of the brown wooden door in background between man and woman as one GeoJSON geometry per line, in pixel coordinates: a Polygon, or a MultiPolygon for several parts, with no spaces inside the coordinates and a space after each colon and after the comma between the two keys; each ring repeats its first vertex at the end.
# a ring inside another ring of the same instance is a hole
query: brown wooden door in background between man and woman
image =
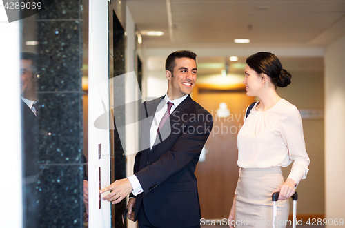
{"type": "Polygon", "coordinates": [[[228,218],[239,175],[237,133],[243,125],[246,107],[254,99],[246,96],[244,88],[219,90],[198,87],[195,92],[197,103],[213,115],[213,130],[205,145],[205,159],[198,163],[195,171],[201,218],[228,218]],[[226,103],[228,116],[217,116],[220,103],[226,103]]]}

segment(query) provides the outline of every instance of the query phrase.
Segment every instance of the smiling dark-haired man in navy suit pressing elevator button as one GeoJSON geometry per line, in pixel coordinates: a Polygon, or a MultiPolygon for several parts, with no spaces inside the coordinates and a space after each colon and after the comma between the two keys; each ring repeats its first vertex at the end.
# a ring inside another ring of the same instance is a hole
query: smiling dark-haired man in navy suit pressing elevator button
{"type": "Polygon", "coordinates": [[[103,199],[114,204],[132,192],[127,216],[138,220],[139,227],[200,227],[194,172],[213,118],[189,95],[197,79],[195,59],[188,50],[168,56],[166,96],[140,107],[141,119],[150,121],[141,124],[142,150],[135,156],[134,175],[101,190],[112,191],[103,199]]]}

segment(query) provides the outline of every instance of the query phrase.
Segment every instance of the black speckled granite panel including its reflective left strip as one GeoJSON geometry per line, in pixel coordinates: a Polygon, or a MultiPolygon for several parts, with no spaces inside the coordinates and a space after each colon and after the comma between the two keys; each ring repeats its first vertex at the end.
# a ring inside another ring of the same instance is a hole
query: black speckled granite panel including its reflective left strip
{"type": "Polygon", "coordinates": [[[88,99],[83,102],[87,90],[81,83],[82,3],[88,5],[51,1],[46,10],[19,21],[23,227],[83,227],[83,105],[88,99]]]}

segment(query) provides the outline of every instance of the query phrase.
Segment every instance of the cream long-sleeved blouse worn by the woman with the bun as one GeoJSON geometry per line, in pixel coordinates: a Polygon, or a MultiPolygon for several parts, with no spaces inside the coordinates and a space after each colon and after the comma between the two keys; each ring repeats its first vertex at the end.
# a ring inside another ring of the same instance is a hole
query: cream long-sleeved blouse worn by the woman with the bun
{"type": "Polygon", "coordinates": [[[288,178],[298,185],[306,178],[311,160],[306,154],[302,119],[297,107],[280,99],[266,111],[257,111],[254,105],[237,136],[242,168],[286,167],[293,163],[288,178]]]}

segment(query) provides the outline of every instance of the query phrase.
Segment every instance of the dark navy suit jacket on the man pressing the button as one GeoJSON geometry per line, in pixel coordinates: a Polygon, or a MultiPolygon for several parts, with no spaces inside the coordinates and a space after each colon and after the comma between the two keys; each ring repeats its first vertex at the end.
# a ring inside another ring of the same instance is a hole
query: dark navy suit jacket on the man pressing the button
{"type": "MultiPolygon", "coordinates": [[[[140,108],[141,117],[154,116],[161,99],[144,102],[140,108]]],[[[146,126],[141,125],[140,138],[146,141],[141,142],[144,145],[149,145],[151,124],[152,120],[146,126]]],[[[188,96],[162,127],[171,127],[167,138],[152,149],[148,147],[137,153],[134,173],[144,193],[137,195],[135,208],[143,204],[148,220],[155,227],[200,225],[194,172],[212,126],[212,115],[188,96]]]]}

